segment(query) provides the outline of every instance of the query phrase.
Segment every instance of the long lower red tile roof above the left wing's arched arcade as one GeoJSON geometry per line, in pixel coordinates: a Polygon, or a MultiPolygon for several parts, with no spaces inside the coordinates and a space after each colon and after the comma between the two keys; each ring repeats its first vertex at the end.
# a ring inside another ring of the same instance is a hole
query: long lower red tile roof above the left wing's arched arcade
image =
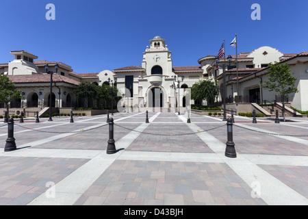
{"type": "MultiPolygon", "coordinates": [[[[50,75],[47,74],[9,75],[8,77],[13,83],[50,83],[50,75]]],[[[58,74],[53,74],[53,82],[64,82],[74,85],[78,85],[80,83],[79,81],[75,81],[74,79],[58,74]]]]}

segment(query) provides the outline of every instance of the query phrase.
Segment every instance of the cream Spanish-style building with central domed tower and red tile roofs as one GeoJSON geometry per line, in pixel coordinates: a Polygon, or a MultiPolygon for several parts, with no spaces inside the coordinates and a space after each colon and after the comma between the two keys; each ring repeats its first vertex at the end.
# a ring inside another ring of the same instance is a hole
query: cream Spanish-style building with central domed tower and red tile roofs
{"type": "MultiPolygon", "coordinates": [[[[37,108],[47,110],[50,98],[53,107],[76,107],[81,103],[75,96],[75,86],[82,81],[90,81],[100,86],[108,79],[117,80],[118,96],[123,99],[118,109],[123,106],[133,107],[137,111],[155,110],[157,112],[185,112],[190,103],[187,88],[199,80],[217,80],[220,96],[216,102],[222,102],[223,70],[216,66],[216,55],[206,55],[196,60],[197,65],[173,66],[172,53],[166,41],[159,37],[149,40],[143,54],[140,52],[140,66],[126,66],[100,73],[75,73],[73,68],[63,62],[38,61],[38,56],[27,51],[11,51],[14,60],[0,64],[0,74],[8,75],[18,90],[25,97],[10,103],[10,107],[37,108]],[[142,57],[142,59],[141,59],[142,57]],[[53,71],[53,93],[50,94],[50,75],[44,66],[53,71]],[[55,73],[55,65],[58,65],[55,73]]],[[[228,54],[226,54],[228,55],[228,54]]],[[[272,103],[281,101],[280,96],[261,88],[261,82],[268,78],[268,64],[280,62],[290,66],[299,92],[292,94],[287,101],[298,110],[308,110],[308,52],[281,53],[272,47],[259,47],[251,52],[231,55],[231,62],[225,63],[224,57],[218,65],[226,64],[226,100],[227,103],[272,103]],[[237,68],[238,64],[238,68],[237,68]]],[[[103,67],[103,66],[102,66],[103,67]]],[[[203,105],[207,105],[203,101],[203,105]]],[[[0,103],[0,107],[5,107],[0,103]]],[[[121,108],[122,107],[122,108],[121,108]]]]}

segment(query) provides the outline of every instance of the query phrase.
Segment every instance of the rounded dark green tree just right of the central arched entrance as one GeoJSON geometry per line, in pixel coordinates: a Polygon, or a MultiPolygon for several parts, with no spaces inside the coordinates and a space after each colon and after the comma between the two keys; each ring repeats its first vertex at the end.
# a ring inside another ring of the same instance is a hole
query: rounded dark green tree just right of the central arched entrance
{"type": "Polygon", "coordinates": [[[194,83],[191,92],[191,98],[194,101],[206,100],[207,103],[211,103],[219,95],[218,83],[217,81],[200,80],[194,83]]]}

